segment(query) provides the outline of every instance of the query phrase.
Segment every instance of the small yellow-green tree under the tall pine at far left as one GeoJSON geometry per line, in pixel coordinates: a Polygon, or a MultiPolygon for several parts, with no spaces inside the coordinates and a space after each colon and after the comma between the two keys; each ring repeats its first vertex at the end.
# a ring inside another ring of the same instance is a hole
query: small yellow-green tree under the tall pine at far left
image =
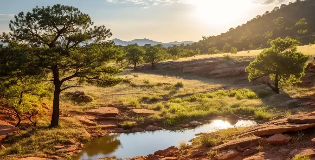
{"type": "Polygon", "coordinates": [[[32,120],[32,117],[38,114],[38,108],[35,108],[33,104],[38,103],[40,98],[50,95],[42,80],[43,76],[27,76],[0,82],[2,103],[12,115],[19,119],[15,127],[19,126],[21,116],[25,116],[34,126],[36,125],[36,121],[32,120]]]}

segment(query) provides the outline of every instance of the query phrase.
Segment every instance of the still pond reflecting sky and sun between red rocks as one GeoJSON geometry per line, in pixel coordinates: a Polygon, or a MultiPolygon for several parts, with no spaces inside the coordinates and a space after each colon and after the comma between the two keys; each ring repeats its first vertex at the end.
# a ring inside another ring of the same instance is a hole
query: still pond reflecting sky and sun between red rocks
{"type": "MultiPolygon", "coordinates": [[[[238,120],[234,126],[257,125],[252,120],[238,120]]],[[[196,137],[194,134],[200,132],[213,132],[218,129],[234,127],[229,122],[223,120],[213,120],[193,130],[157,130],[153,132],[137,132],[129,134],[112,133],[100,137],[84,145],[76,160],[98,160],[103,157],[132,158],[135,156],[146,156],[153,154],[157,150],[165,149],[169,146],[177,146],[179,141],[189,141],[196,137]]],[[[189,144],[189,142],[187,142],[189,144]]]]}

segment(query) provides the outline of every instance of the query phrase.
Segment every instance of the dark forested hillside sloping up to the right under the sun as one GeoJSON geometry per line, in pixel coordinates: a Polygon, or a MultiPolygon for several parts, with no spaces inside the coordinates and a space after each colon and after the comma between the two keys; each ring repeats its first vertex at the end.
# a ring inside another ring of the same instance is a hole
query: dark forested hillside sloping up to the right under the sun
{"type": "Polygon", "coordinates": [[[270,47],[271,39],[287,36],[299,40],[303,45],[314,44],[314,8],[314,0],[282,4],[263,15],[257,15],[246,24],[230,28],[226,33],[203,36],[202,40],[185,47],[193,50],[199,48],[202,53],[209,50],[209,54],[215,54],[217,50],[229,52],[231,47],[236,47],[238,51],[267,48],[270,47]]]}

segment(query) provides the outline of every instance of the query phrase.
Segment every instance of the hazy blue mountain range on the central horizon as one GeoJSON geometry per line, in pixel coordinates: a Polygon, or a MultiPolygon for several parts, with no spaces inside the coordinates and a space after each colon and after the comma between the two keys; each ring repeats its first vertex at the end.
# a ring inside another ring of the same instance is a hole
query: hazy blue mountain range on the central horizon
{"type": "Polygon", "coordinates": [[[157,45],[157,44],[162,44],[164,47],[169,47],[169,46],[173,46],[173,45],[180,45],[181,43],[184,44],[192,44],[194,43],[194,41],[182,41],[182,42],[178,42],[178,41],[174,41],[174,42],[169,42],[169,43],[162,43],[162,42],[157,42],[157,41],[152,41],[149,39],[135,39],[132,41],[122,41],[120,39],[113,39],[113,40],[108,40],[108,41],[115,41],[116,45],[122,45],[122,46],[127,46],[129,44],[135,44],[137,43],[140,46],[144,46],[145,44],[151,44],[151,45],[157,45]]]}

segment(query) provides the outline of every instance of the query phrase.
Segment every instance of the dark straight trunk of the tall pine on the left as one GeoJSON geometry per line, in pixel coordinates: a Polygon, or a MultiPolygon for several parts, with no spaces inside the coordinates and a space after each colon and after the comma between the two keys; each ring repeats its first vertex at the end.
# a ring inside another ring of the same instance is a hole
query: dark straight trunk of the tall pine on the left
{"type": "Polygon", "coordinates": [[[53,101],[53,115],[51,117],[51,123],[50,127],[58,127],[59,125],[59,98],[60,98],[60,92],[61,92],[61,83],[59,79],[59,70],[56,69],[53,70],[54,74],[54,101],[53,101]]]}

